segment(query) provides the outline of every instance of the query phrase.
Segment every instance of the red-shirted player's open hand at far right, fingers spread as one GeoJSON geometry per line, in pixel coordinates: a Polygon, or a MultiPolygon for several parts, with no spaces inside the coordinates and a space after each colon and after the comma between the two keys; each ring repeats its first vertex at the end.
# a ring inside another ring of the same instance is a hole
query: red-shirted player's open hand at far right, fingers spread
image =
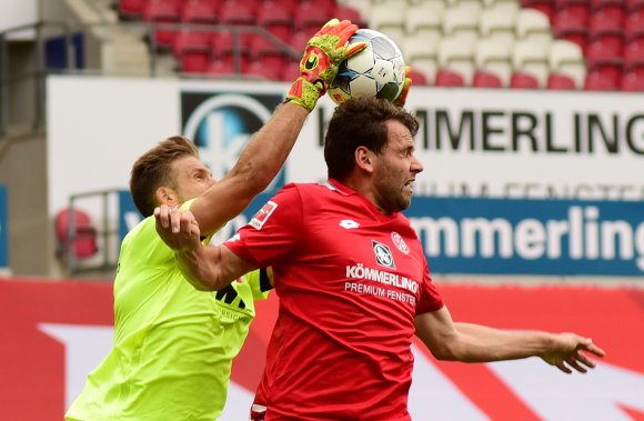
{"type": "Polygon", "coordinates": [[[590,338],[574,333],[560,333],[553,337],[552,350],[540,357],[564,373],[572,373],[572,369],[585,373],[588,368],[595,368],[595,362],[586,355],[586,352],[596,357],[605,354],[604,350],[595,345],[590,338]]]}

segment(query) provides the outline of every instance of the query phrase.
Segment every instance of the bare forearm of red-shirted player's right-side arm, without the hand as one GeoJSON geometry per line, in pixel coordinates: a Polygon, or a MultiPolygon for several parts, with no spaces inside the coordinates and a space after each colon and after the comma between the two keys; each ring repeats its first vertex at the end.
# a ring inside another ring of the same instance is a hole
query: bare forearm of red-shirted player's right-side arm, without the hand
{"type": "Polygon", "coordinates": [[[542,331],[510,331],[480,324],[454,323],[459,341],[454,359],[463,362],[516,360],[543,355],[552,348],[552,334],[542,331]]]}

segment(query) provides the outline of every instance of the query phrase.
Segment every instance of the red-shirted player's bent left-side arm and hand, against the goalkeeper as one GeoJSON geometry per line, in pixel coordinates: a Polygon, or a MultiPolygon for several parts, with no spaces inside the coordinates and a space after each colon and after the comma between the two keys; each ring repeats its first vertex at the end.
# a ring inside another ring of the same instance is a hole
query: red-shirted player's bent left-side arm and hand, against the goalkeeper
{"type": "Polygon", "coordinates": [[[203,245],[199,222],[191,211],[162,204],[154,209],[157,232],[174,250],[181,273],[198,290],[227,287],[254,268],[224,245],[203,245]]]}

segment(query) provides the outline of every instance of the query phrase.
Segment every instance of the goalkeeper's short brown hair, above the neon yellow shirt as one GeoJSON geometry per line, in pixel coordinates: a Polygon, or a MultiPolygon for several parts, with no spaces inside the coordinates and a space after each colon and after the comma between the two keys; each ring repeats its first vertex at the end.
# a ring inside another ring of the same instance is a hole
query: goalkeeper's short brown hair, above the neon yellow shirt
{"type": "Polygon", "coordinates": [[[171,171],[172,162],[188,156],[199,158],[194,143],[182,136],[173,136],[159,142],[134,162],[130,174],[130,192],[143,217],[154,212],[159,187],[177,188],[175,174],[171,171]]]}

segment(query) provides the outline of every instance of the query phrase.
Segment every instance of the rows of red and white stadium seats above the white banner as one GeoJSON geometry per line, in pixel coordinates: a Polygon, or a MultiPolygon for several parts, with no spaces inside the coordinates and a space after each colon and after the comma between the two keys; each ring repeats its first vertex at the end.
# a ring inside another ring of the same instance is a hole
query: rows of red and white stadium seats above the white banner
{"type": "Polygon", "coordinates": [[[187,74],[255,77],[263,69],[265,78],[288,79],[312,31],[339,17],[394,39],[419,84],[642,84],[644,0],[118,0],[118,11],[158,24],[159,53],[170,49],[187,74]],[[239,36],[233,26],[243,28],[239,36]]]}

